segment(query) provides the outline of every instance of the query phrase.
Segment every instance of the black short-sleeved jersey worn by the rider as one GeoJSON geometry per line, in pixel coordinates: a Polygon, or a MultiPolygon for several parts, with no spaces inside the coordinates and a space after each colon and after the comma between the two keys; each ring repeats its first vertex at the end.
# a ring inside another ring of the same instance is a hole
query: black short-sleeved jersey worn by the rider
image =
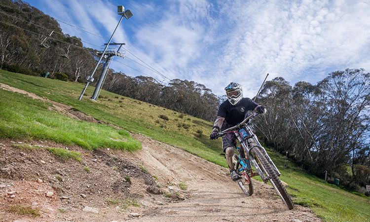
{"type": "Polygon", "coordinates": [[[258,104],[250,98],[243,98],[235,106],[226,100],[220,105],[217,116],[225,118],[227,125],[235,126],[247,117],[248,111],[254,110],[256,107],[258,104]]]}

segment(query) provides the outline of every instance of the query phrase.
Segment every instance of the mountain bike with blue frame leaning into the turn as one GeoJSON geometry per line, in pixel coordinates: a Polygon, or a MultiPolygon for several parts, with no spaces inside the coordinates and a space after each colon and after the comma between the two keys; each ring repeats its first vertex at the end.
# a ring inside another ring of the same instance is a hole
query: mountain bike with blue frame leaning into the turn
{"type": "Polygon", "coordinates": [[[294,203],[279,179],[281,173],[272,162],[266,150],[260,145],[257,136],[253,133],[249,125],[251,120],[257,115],[259,113],[252,113],[241,123],[223,130],[216,139],[227,133],[233,133],[239,141],[240,147],[236,146],[239,154],[234,154],[233,160],[236,171],[241,178],[237,180],[237,183],[246,195],[250,196],[253,194],[251,178],[260,176],[265,184],[268,181],[271,183],[284,204],[292,210],[294,203]],[[252,166],[254,166],[257,172],[253,172],[252,166]]]}

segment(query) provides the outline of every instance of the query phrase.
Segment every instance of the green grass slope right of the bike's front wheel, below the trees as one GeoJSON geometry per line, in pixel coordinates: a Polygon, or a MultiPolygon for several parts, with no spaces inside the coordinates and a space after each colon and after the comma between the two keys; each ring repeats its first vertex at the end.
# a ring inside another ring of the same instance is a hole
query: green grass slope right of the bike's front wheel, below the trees
{"type": "Polygon", "coordinates": [[[325,183],[323,179],[305,173],[284,156],[267,152],[282,176],[296,205],[307,206],[325,222],[369,222],[370,198],[361,197],[342,189],[342,186],[325,183]]]}

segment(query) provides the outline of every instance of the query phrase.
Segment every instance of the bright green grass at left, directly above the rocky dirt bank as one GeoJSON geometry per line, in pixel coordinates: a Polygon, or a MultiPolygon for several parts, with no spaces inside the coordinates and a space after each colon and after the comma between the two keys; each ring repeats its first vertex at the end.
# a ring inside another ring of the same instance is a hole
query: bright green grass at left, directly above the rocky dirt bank
{"type": "Polygon", "coordinates": [[[48,111],[50,106],[22,94],[0,90],[0,138],[52,140],[86,149],[141,148],[124,130],[48,111]]]}

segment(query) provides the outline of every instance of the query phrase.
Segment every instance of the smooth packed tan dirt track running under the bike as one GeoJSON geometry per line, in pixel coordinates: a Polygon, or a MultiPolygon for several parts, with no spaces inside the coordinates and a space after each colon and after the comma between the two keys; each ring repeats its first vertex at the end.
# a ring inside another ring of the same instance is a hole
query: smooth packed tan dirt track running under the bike
{"type": "Polygon", "coordinates": [[[158,142],[148,137],[134,137],[143,144],[143,150],[135,155],[147,165],[154,166],[155,169],[148,169],[152,174],[166,172],[175,182],[188,185],[187,199],[148,209],[137,221],[321,221],[308,208],[296,206],[294,210],[288,210],[269,185],[253,180],[255,194],[247,197],[230,179],[225,168],[179,148],[158,146],[158,142]]]}

